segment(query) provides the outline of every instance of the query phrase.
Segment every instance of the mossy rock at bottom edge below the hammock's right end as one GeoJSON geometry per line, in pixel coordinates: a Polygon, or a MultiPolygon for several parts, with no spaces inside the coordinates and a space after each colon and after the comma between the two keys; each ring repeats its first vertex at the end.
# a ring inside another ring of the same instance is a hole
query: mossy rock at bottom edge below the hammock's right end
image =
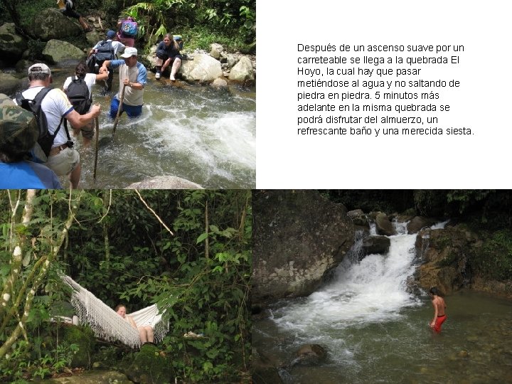
{"type": "Polygon", "coordinates": [[[171,383],[171,362],[167,361],[158,347],[144,344],[124,373],[135,383],[171,383]]]}

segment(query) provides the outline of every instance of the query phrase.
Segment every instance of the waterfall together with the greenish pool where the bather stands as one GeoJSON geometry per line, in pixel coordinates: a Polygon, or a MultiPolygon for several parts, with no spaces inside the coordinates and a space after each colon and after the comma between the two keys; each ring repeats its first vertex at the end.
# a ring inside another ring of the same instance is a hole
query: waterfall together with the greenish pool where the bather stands
{"type": "Polygon", "coordinates": [[[253,323],[253,348],[280,367],[284,383],[510,382],[503,352],[511,351],[510,302],[473,292],[450,296],[443,332],[432,334],[430,299],[406,289],[417,265],[416,235],[405,225],[397,230],[386,255],[361,260],[357,240],[329,284],[277,303],[274,316],[253,323]],[[302,365],[297,351],[304,343],[323,346],[325,360],[302,365]]]}

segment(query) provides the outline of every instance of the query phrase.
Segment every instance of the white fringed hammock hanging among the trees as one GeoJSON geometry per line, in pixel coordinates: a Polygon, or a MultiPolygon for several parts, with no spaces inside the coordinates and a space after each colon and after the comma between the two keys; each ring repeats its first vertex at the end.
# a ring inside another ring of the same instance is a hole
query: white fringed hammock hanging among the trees
{"type": "MultiPolygon", "coordinates": [[[[87,289],[81,287],[71,277],[63,276],[62,279],[73,288],[71,304],[77,311],[80,321],[82,324],[88,324],[97,337],[105,338],[108,341],[119,340],[132,348],[141,345],[139,331],[119,316],[114,309],[107,306],[87,289]]],[[[132,316],[137,326],[151,326],[153,328],[155,343],[161,341],[165,334],[169,332],[169,321],[161,321],[161,315],[156,308],[156,304],[132,314],[127,314],[127,316],[132,316]]]]}

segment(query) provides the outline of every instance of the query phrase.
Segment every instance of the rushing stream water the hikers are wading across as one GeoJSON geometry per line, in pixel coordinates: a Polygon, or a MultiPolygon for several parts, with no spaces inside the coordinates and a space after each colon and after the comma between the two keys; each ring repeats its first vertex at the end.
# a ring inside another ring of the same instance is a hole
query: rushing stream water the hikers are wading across
{"type": "MultiPolygon", "coordinates": [[[[52,69],[53,70],[53,69],[52,69]]],[[[72,69],[69,69],[72,71],[72,69]]],[[[53,71],[60,87],[68,70],[53,71]]],[[[117,78],[117,74],[114,75],[117,78]]],[[[204,188],[254,188],[256,183],[255,90],[226,90],[148,75],[142,116],[122,114],[112,140],[114,122],[107,117],[112,95],[93,100],[102,107],[97,177],[93,179],[95,148],[80,148],[80,188],[125,188],[155,176],[177,176],[204,188]]],[[[65,178],[61,179],[67,185],[65,178]]]]}

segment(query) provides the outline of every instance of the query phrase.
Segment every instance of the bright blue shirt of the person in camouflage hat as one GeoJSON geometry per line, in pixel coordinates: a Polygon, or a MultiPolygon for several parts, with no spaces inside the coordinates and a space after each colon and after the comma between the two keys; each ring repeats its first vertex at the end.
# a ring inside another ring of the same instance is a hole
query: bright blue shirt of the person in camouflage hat
{"type": "Polygon", "coordinates": [[[32,161],[0,162],[1,189],[62,189],[51,169],[32,161]]]}

